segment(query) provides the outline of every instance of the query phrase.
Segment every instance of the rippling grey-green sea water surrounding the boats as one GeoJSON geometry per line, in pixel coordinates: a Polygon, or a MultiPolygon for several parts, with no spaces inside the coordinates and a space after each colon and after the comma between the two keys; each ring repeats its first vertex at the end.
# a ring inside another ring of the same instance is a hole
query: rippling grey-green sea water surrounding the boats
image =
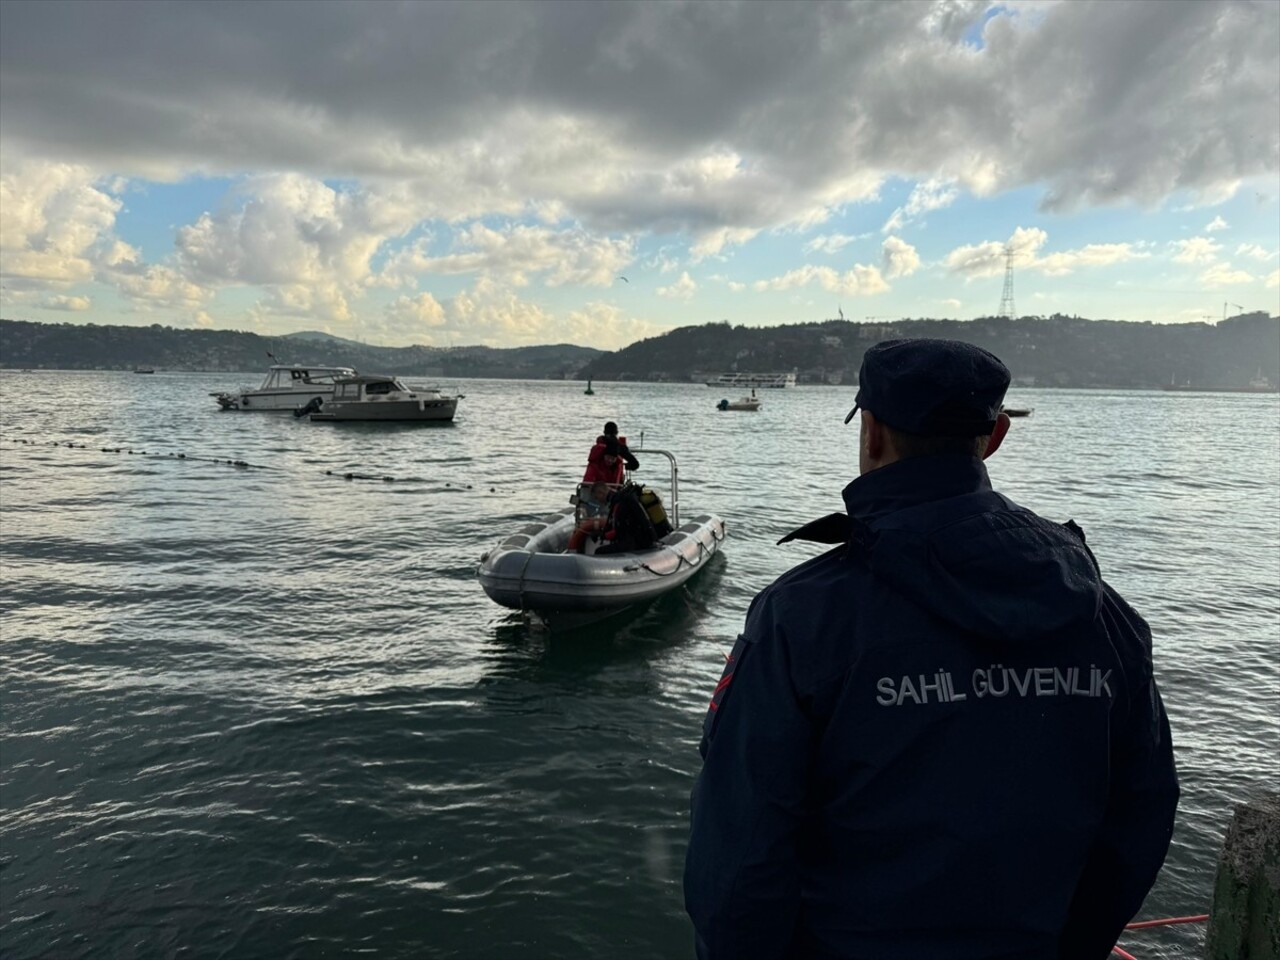
{"type": "MultiPolygon", "coordinates": [[[[699,726],[751,596],[817,552],[774,540],[841,508],[852,390],[444,383],[452,426],[207,396],[257,379],[0,372],[0,955],[691,956],[699,726]],[[605,420],[730,539],[548,634],[475,566],[567,502],[605,420]]],[[[1184,792],[1142,915],[1206,911],[1233,804],[1280,787],[1280,402],[1009,399],[1036,412],[997,486],[1075,518],[1156,635],[1184,792]]]]}

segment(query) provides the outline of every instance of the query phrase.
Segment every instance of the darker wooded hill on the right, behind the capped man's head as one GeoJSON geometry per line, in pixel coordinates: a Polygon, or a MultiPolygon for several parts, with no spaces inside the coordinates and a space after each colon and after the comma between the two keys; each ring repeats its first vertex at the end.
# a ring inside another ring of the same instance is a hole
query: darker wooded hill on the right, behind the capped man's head
{"type": "Polygon", "coordinates": [[[790,372],[799,383],[855,383],[867,348],[897,337],[943,337],[986,347],[1014,381],[1041,387],[1245,389],[1280,384],[1280,317],[1152,324],[1073,316],[828,320],[786,326],[682,326],[593,360],[598,380],[709,380],[726,371],[790,372]]]}

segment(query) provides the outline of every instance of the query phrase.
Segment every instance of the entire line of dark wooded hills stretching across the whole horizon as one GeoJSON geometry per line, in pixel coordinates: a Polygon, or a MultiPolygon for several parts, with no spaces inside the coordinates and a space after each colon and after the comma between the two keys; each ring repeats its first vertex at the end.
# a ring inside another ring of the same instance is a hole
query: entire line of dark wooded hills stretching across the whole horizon
{"type": "Polygon", "coordinates": [[[604,353],[590,347],[372,347],[306,332],[101,326],[0,320],[0,365],[72,370],[264,369],[279,362],[353,366],[433,378],[701,381],[726,371],[795,370],[803,384],[855,383],[863,353],[896,337],[969,340],[1001,357],[1021,385],[1248,389],[1280,384],[1280,317],[1247,314],[1217,324],[1151,324],[1074,316],[1007,320],[827,320],[781,326],[682,326],[604,353]]]}

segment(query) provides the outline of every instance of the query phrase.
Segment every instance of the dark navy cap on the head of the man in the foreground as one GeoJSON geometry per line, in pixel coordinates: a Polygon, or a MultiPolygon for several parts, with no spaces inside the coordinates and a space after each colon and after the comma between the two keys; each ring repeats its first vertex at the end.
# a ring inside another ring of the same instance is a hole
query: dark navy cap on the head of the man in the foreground
{"type": "Polygon", "coordinates": [[[996,428],[1009,367],[963,340],[884,340],[863,356],[859,407],[897,430],[920,436],[982,436],[996,428]]]}

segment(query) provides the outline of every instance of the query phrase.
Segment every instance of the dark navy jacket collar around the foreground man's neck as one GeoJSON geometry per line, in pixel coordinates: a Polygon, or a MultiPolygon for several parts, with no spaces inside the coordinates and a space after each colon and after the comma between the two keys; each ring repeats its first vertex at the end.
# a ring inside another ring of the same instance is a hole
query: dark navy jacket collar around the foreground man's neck
{"type": "Polygon", "coordinates": [[[863,474],[844,489],[849,516],[872,524],[888,513],[929,500],[991,489],[977,457],[911,457],[863,474]]]}

